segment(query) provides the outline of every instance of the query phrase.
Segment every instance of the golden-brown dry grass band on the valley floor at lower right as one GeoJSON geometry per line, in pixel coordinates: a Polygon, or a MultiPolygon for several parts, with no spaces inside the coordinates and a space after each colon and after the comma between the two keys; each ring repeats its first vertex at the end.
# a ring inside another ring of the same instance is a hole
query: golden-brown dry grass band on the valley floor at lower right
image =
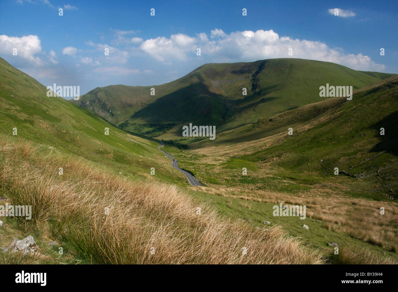
{"type": "Polygon", "coordinates": [[[347,232],[390,251],[395,252],[398,248],[398,205],[395,202],[352,199],[336,194],[329,196],[327,189],[312,189],[297,195],[261,190],[247,192],[244,188],[203,187],[197,191],[256,202],[306,205],[307,216],[324,221],[326,229],[347,232]],[[380,214],[381,207],[385,210],[384,215],[380,214]]]}

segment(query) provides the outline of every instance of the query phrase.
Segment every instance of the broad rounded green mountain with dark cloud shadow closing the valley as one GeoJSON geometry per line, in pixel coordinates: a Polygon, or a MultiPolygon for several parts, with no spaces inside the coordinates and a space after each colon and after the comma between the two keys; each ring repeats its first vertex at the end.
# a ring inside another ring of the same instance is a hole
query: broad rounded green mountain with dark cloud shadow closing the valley
{"type": "Polygon", "coordinates": [[[231,130],[320,101],[327,83],[355,90],[392,75],[296,58],[205,64],[170,83],[106,86],[72,102],[126,130],[176,139],[188,123],[231,130]]]}

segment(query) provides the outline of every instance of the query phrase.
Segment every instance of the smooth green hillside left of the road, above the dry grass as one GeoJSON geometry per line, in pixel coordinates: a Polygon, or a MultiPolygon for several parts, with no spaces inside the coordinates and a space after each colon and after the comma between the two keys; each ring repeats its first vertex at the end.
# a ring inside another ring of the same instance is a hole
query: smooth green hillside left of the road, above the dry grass
{"type": "Polygon", "coordinates": [[[0,134],[34,141],[39,152],[82,156],[123,176],[185,183],[156,149],[158,141],[131,135],[92,111],[46,93],[45,86],[0,58],[0,134]]]}

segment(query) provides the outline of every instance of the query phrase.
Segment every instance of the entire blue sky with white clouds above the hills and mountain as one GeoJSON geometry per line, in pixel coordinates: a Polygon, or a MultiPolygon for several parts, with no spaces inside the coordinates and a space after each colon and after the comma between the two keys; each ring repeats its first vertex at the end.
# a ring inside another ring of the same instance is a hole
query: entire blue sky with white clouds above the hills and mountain
{"type": "Polygon", "coordinates": [[[267,58],[398,73],[397,3],[0,0],[0,56],[45,86],[80,86],[81,94],[162,84],[205,63],[267,58]]]}

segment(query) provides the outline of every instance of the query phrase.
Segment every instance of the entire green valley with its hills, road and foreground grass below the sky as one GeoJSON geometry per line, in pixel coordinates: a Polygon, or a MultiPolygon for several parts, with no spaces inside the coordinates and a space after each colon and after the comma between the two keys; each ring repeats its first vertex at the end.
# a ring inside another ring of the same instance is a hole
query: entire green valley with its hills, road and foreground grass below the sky
{"type": "MultiPolygon", "coordinates": [[[[205,64],[154,86],[160,96],[150,96],[153,86],[107,86],[66,101],[48,97],[45,86],[4,59],[0,65],[0,196],[33,205],[31,222],[5,220],[0,245],[33,232],[43,247],[51,237],[67,250],[62,263],[89,263],[93,255],[95,263],[243,263],[234,252],[247,242],[255,252],[244,263],[398,261],[394,74],[302,59],[205,64]],[[353,84],[352,100],[321,98],[327,83],[353,84]],[[214,126],[215,140],[183,136],[189,124],[214,126]],[[274,216],[282,203],[306,206],[305,219],[274,216]],[[104,206],[111,217],[101,215],[104,206]],[[107,220],[117,228],[108,229],[107,220]],[[103,232],[112,244],[107,257],[98,249],[103,232]],[[176,233],[180,243],[168,239],[176,233]],[[120,234],[128,242],[121,249],[120,234]],[[214,238],[206,250],[192,244],[214,238]],[[162,251],[156,260],[146,257],[155,241],[162,251]],[[339,257],[327,243],[338,244],[339,257]],[[170,244],[184,257],[168,253],[170,244]],[[209,260],[217,258],[217,244],[225,245],[225,257],[209,260]],[[264,249],[279,257],[264,257],[264,249]]],[[[59,261],[55,250],[45,257],[59,261]]]]}

